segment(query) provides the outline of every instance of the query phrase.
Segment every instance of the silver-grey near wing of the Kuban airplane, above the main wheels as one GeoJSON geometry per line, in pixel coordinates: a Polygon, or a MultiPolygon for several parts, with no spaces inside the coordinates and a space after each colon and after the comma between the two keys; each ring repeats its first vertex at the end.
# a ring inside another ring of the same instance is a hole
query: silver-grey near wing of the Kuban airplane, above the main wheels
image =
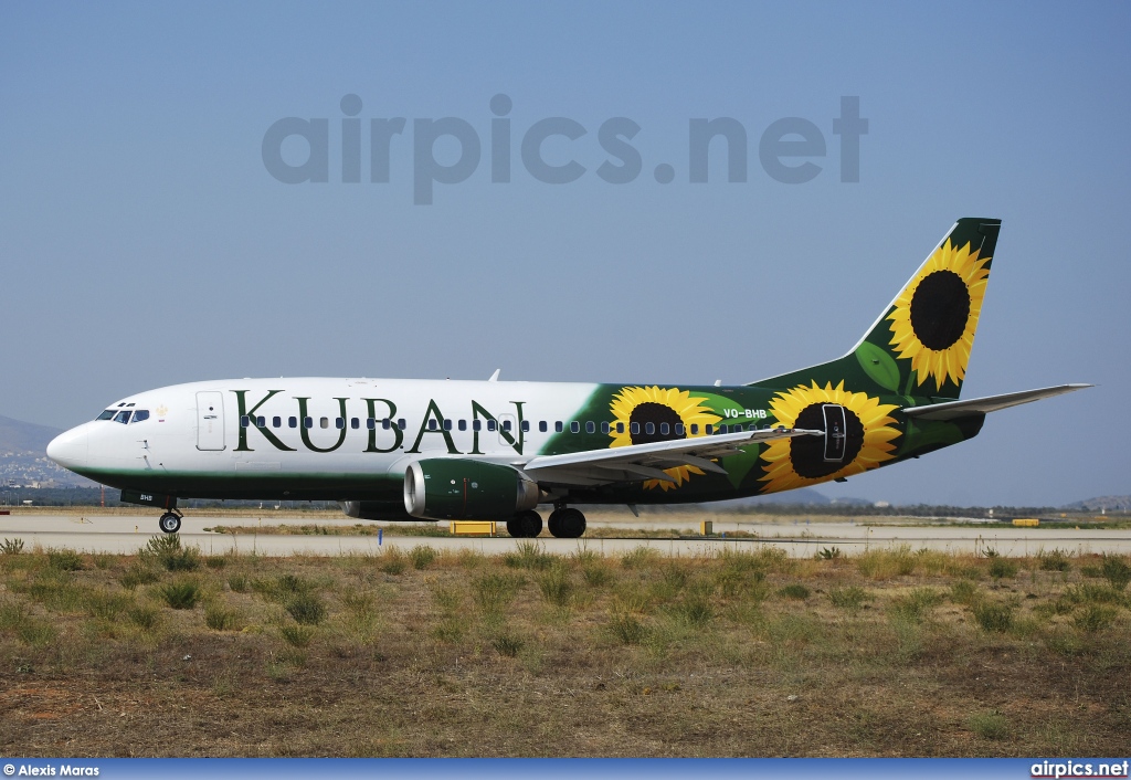
{"type": "Polygon", "coordinates": [[[610,482],[638,482],[658,479],[674,482],[664,469],[696,466],[702,471],[725,474],[714,458],[736,455],[742,447],[760,442],[794,436],[824,436],[823,430],[801,428],[765,428],[737,434],[697,436],[670,442],[633,444],[627,447],[587,449],[566,455],[542,455],[526,463],[515,463],[538,482],[553,485],[595,486],[610,482]]]}

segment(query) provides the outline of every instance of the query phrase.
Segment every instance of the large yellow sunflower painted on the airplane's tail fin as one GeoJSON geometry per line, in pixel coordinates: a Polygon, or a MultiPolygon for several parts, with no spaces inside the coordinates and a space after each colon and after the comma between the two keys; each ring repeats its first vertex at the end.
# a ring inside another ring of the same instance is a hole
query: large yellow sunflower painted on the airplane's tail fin
{"type": "Polygon", "coordinates": [[[958,248],[948,238],[896,299],[887,317],[891,320],[889,343],[897,358],[910,358],[918,386],[927,377],[934,379],[935,391],[948,380],[961,385],[991,259],[979,258],[969,243],[958,248]]]}

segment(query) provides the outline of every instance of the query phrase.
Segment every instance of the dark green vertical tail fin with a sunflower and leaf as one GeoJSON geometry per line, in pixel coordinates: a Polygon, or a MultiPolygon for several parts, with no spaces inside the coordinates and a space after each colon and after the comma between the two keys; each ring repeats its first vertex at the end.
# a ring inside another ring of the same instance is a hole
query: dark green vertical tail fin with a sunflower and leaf
{"type": "Polygon", "coordinates": [[[957,398],[999,230],[1001,220],[959,220],[848,354],[753,384],[844,382],[870,394],[957,398]]]}

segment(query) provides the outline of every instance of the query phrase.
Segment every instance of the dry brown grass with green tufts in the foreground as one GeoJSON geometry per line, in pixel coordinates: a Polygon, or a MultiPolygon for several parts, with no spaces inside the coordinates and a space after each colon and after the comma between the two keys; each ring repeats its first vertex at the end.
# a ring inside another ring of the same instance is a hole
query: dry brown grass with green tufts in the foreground
{"type": "Polygon", "coordinates": [[[0,556],[0,753],[1114,755],[1131,728],[1111,557],[159,552],[0,556]]]}

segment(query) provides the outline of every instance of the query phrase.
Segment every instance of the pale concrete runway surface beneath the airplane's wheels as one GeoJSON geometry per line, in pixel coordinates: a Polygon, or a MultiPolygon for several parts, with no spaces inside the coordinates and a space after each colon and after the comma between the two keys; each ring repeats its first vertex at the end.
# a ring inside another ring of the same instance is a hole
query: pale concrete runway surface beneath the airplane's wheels
{"type": "MultiPolygon", "coordinates": [[[[349,535],[277,535],[277,534],[222,534],[206,532],[205,528],[217,525],[256,526],[261,524],[318,524],[349,528],[357,521],[344,517],[256,517],[256,516],[209,516],[185,517],[181,528],[181,540],[195,545],[206,555],[219,555],[231,550],[258,552],[268,556],[287,555],[380,555],[390,546],[407,549],[416,545],[428,545],[439,550],[475,549],[485,555],[509,551],[520,541],[511,539],[500,529],[500,537],[398,537],[385,534],[383,540],[372,537],[349,535]]],[[[446,525],[446,524],[442,524],[446,525]]],[[[590,528],[666,528],[673,530],[698,530],[691,520],[663,521],[601,521],[592,518],[590,528]]],[[[568,555],[586,548],[607,555],[620,555],[637,547],[650,547],[665,555],[694,556],[717,552],[724,547],[749,549],[758,545],[771,545],[784,549],[793,557],[808,558],[823,548],[836,547],[845,555],[858,555],[867,549],[908,545],[912,549],[929,548],[949,552],[981,552],[993,548],[1000,555],[1018,557],[1035,555],[1039,550],[1059,548],[1073,554],[1116,552],[1131,554],[1131,530],[1103,530],[1081,526],[1062,528],[1013,528],[987,523],[984,525],[895,525],[891,523],[863,525],[853,522],[782,521],[761,522],[715,522],[716,534],[734,531],[757,533],[757,539],[684,538],[684,539],[554,539],[538,538],[547,552],[568,555]]],[[[16,514],[0,515],[0,539],[23,539],[25,550],[35,546],[43,548],[67,547],[87,552],[136,552],[146,546],[149,538],[158,534],[157,518],[152,513],[130,515],[80,515],[80,514],[16,514]]]]}

